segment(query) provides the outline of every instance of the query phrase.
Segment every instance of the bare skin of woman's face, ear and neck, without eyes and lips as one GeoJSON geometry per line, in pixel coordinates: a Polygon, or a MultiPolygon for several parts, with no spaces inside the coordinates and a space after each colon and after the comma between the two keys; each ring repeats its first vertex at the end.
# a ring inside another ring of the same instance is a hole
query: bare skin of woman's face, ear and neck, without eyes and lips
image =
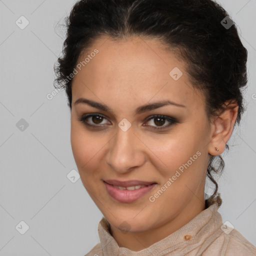
{"type": "Polygon", "coordinates": [[[224,151],[237,116],[236,103],[211,121],[205,112],[203,94],[193,89],[177,59],[155,39],[128,37],[111,40],[101,36],[77,63],[97,48],[99,52],[75,75],[72,82],[71,147],[87,192],[110,223],[119,246],[138,251],[168,236],[205,209],[204,183],[209,154],[224,151]],[[183,75],[174,80],[169,72],[178,67],[183,75]],[[84,97],[104,103],[112,111],[74,102],[84,97]],[[185,107],[165,105],[135,114],[136,107],[163,99],[185,107]],[[97,113],[103,119],[78,120],[97,113]],[[158,123],[151,115],[174,117],[158,123]],[[118,123],[126,118],[127,131],[118,123]],[[162,131],[150,127],[165,127],[162,131]],[[214,147],[219,151],[216,151],[214,147]],[[154,195],[175,171],[196,152],[200,156],[154,202],[154,195]],[[105,179],[153,181],[157,185],[146,195],[129,203],[118,202],[106,191],[105,179]],[[123,221],[127,232],[120,230],[123,221]]]}

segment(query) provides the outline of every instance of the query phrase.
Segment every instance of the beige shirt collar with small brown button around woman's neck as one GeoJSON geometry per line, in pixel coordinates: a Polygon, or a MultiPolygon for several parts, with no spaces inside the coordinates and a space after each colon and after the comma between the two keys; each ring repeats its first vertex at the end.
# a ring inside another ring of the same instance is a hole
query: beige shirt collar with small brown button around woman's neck
{"type": "Polygon", "coordinates": [[[212,233],[214,229],[222,224],[221,215],[217,212],[219,207],[217,201],[205,200],[205,205],[208,208],[201,211],[193,219],[191,219],[184,226],[180,227],[175,232],[160,241],[155,242],[151,246],[140,251],[132,251],[125,247],[119,247],[115,239],[109,232],[109,223],[105,217],[102,217],[98,224],[98,235],[100,245],[104,256],[144,256],[144,255],[158,255],[161,251],[175,246],[184,241],[190,240],[193,236],[200,234],[212,233]]]}

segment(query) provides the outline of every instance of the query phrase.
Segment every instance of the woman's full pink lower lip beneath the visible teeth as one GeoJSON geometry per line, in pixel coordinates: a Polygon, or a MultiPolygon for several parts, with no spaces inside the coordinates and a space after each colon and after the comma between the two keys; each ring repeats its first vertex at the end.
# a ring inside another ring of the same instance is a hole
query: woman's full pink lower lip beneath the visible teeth
{"type": "MultiPolygon", "coordinates": [[[[142,197],[145,195],[147,192],[149,192],[155,185],[156,183],[151,183],[145,187],[140,187],[138,189],[134,190],[128,190],[128,189],[119,189],[117,187],[114,187],[111,184],[108,184],[104,181],[104,185],[106,187],[107,192],[109,195],[111,195],[112,198],[119,202],[132,202],[137,200],[138,198],[142,197]]],[[[143,185],[143,184],[141,184],[143,185]]],[[[124,185],[119,185],[119,186],[124,186],[124,185]]],[[[125,186],[132,186],[132,185],[125,185],[125,186]]]]}

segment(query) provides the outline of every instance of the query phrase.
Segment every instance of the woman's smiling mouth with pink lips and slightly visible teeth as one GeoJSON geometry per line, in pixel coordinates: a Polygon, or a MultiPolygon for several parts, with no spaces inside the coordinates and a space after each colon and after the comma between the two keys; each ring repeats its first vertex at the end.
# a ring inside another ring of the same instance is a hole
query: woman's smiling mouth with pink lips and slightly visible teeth
{"type": "Polygon", "coordinates": [[[157,183],[141,180],[103,180],[108,194],[119,202],[133,202],[148,193],[157,183]]]}

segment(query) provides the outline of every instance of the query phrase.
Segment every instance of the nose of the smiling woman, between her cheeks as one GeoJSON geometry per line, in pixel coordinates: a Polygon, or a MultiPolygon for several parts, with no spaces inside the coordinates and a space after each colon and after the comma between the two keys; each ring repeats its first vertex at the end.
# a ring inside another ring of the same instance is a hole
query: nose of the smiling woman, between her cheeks
{"type": "Polygon", "coordinates": [[[132,126],[123,131],[117,127],[115,136],[109,141],[106,162],[119,173],[131,171],[132,167],[143,165],[146,160],[145,145],[139,140],[132,126]]]}

